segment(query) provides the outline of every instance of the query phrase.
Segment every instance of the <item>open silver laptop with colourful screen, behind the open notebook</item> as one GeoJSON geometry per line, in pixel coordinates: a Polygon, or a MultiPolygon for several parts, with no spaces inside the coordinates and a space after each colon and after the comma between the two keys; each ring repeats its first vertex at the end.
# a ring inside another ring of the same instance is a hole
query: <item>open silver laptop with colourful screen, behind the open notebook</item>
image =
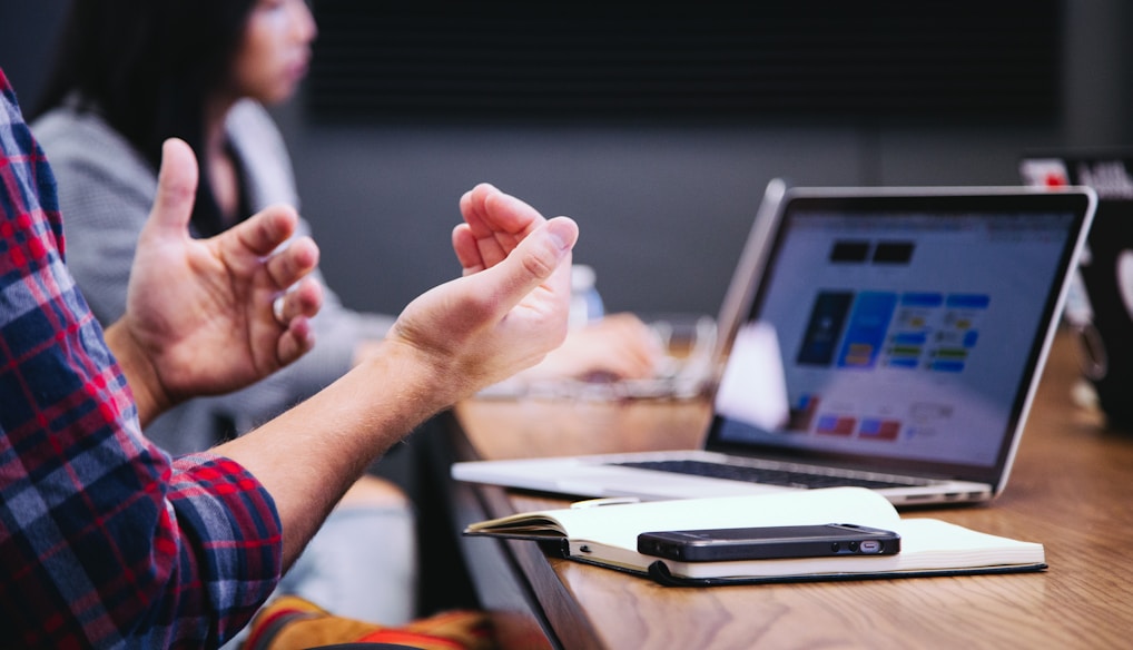
{"type": "Polygon", "coordinates": [[[988,501],[1094,204],[1085,188],[789,189],[749,264],[702,448],[452,476],[588,497],[859,485],[897,505],[988,501]]]}

